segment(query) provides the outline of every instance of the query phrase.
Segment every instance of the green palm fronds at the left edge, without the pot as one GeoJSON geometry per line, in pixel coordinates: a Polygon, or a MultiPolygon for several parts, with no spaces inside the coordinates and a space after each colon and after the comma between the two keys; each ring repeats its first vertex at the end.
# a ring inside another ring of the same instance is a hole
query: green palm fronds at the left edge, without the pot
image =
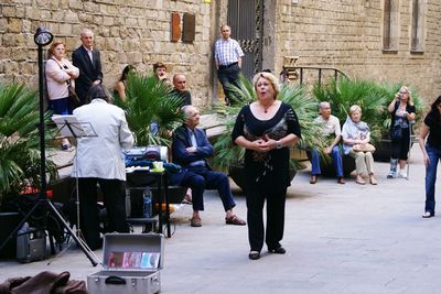
{"type": "MultiPolygon", "coordinates": [[[[39,118],[36,90],[0,85],[0,200],[19,194],[29,183],[40,186],[39,118]]],[[[56,174],[51,160],[46,160],[46,171],[51,177],[56,174]]]]}

